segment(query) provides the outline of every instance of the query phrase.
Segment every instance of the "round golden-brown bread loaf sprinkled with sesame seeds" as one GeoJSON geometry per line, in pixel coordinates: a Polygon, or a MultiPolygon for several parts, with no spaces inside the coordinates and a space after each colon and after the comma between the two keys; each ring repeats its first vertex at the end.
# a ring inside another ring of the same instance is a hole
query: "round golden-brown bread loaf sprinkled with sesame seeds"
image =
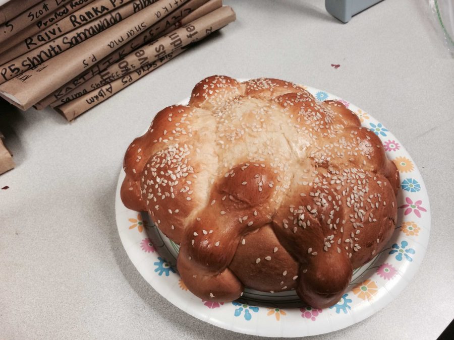
{"type": "Polygon", "coordinates": [[[181,278],[209,301],[246,286],[330,306],[395,227],[399,172],[379,138],[277,79],[201,81],[133,141],[124,170],[124,204],[181,245],[181,278]]]}

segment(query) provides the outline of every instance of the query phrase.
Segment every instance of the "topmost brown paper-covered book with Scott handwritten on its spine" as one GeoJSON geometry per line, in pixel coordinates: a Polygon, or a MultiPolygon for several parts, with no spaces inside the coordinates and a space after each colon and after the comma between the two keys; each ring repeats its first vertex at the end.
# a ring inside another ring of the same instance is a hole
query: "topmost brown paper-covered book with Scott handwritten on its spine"
{"type": "Polygon", "coordinates": [[[16,33],[38,21],[42,17],[45,17],[47,14],[53,12],[67,2],[70,2],[70,0],[43,0],[25,12],[22,12],[17,17],[8,20],[4,24],[0,25],[0,43],[4,42],[8,38],[11,38],[16,33]]]}

